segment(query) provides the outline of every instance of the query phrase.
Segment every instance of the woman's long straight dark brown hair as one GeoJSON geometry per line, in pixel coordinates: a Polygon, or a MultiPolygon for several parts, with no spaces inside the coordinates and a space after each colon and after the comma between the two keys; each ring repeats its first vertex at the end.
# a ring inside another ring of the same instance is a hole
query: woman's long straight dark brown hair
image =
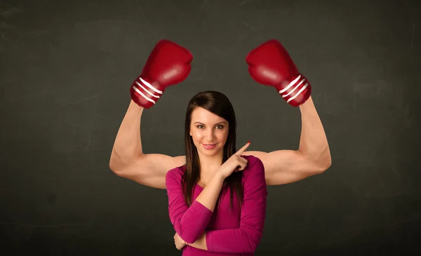
{"type": "MultiPolygon", "coordinates": [[[[186,153],[186,168],[185,173],[182,176],[182,189],[185,194],[185,199],[188,205],[192,204],[193,200],[193,189],[200,179],[200,160],[197,153],[196,146],[190,136],[190,123],[192,121],[192,112],[196,107],[202,107],[203,109],[216,114],[223,119],[228,121],[228,137],[224,145],[224,153],[222,163],[225,163],[232,154],[236,152],[236,119],[234,114],[234,108],[229,102],[228,97],[223,93],[208,90],[202,93],[197,93],[192,97],[187,106],[186,119],[185,119],[185,153],[186,153]]],[[[229,187],[230,191],[230,207],[232,207],[233,191],[236,192],[236,196],[241,201],[243,199],[243,187],[241,183],[241,177],[243,172],[234,172],[229,177],[225,178],[222,184],[222,189],[229,187]]],[[[221,191],[222,191],[221,189],[221,191]]],[[[219,201],[219,197],[218,197],[219,201]]],[[[218,203],[217,203],[218,205],[218,203]]]]}

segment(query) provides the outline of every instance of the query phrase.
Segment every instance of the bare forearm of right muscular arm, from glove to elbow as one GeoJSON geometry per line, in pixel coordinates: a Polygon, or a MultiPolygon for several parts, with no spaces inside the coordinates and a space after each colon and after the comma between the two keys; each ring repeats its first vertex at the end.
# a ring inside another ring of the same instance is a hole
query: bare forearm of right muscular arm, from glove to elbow
{"type": "Polygon", "coordinates": [[[315,163],[328,168],[331,161],[328,139],[312,97],[300,105],[300,112],[302,128],[299,150],[315,163]]]}

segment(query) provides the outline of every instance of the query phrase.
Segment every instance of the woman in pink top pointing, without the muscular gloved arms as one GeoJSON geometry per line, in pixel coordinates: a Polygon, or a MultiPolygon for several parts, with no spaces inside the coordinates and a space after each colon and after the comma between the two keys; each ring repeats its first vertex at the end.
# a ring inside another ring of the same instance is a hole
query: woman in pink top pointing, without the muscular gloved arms
{"type": "Polygon", "coordinates": [[[166,173],[168,210],[182,255],[253,255],[262,238],[265,168],[235,150],[234,109],[222,93],[190,100],[185,118],[186,164],[166,173]]]}

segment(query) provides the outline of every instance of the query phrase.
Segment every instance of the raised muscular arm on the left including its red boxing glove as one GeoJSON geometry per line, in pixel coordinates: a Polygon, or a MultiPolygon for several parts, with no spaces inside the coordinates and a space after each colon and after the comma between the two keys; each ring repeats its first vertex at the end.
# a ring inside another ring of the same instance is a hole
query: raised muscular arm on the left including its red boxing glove
{"type": "Polygon", "coordinates": [[[152,49],[142,74],[132,83],[132,100],[114,141],[109,168],[116,175],[165,189],[167,171],[185,162],[184,156],[143,154],[140,118],[143,109],[154,106],[168,86],[187,78],[192,60],[189,50],[168,40],[159,41],[152,49]]]}

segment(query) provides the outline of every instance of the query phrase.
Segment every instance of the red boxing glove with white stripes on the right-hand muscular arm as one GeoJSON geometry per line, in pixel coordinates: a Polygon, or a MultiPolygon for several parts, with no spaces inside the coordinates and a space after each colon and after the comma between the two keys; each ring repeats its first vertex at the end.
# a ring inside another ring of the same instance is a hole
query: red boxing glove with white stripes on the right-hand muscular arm
{"type": "Polygon", "coordinates": [[[293,107],[308,100],[312,93],[309,81],[298,72],[281,43],[269,40],[254,48],[246,57],[250,76],[266,86],[273,86],[293,107]]]}

